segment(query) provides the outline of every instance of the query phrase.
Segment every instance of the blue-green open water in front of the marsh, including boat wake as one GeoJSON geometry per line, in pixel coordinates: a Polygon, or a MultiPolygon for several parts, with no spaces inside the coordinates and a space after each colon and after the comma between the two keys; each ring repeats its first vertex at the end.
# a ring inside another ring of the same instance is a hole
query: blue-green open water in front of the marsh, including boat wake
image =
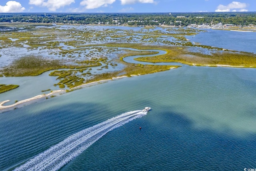
{"type": "Polygon", "coordinates": [[[255,78],[255,69],[183,65],[0,113],[0,170],[255,168],[255,78]]]}

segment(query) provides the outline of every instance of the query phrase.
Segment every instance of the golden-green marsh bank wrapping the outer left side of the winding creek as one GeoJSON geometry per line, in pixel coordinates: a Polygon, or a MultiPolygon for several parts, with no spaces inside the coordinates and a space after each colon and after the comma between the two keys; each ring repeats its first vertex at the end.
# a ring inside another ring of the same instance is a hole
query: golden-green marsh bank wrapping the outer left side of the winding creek
{"type": "MultiPolygon", "coordinates": [[[[135,65],[130,63],[125,63],[122,61],[124,57],[131,56],[131,55],[151,55],[156,54],[158,52],[154,51],[131,51],[131,50],[122,50],[122,53],[119,53],[117,59],[115,60],[116,63],[122,63],[125,65],[123,69],[120,71],[114,71],[114,72],[104,72],[101,74],[92,74],[90,72],[84,73],[86,71],[86,68],[80,69],[80,70],[62,70],[62,71],[54,71],[50,73],[50,76],[56,76],[60,82],[56,84],[55,86],[60,86],[60,88],[63,85],[67,86],[68,88],[74,88],[76,86],[82,85],[84,83],[91,83],[94,81],[100,81],[104,79],[112,79],[113,77],[121,77],[121,76],[132,76],[132,75],[143,75],[147,73],[155,73],[160,71],[166,71],[170,68],[177,68],[178,66],[162,66],[162,65],[135,65]],[[119,59],[119,60],[118,60],[119,59]],[[81,73],[81,74],[79,74],[81,73]],[[88,79],[84,79],[83,77],[88,76],[88,79]]],[[[104,63],[108,63],[106,58],[98,58],[93,59],[95,61],[102,61],[104,63]]],[[[89,64],[88,61],[85,61],[84,63],[89,64]]],[[[117,66],[116,63],[110,63],[110,66],[117,66]]],[[[108,65],[105,65],[102,67],[102,69],[108,69],[108,65]]],[[[100,69],[100,70],[102,70],[100,69]]],[[[88,69],[90,71],[90,69],[88,69]]]]}

